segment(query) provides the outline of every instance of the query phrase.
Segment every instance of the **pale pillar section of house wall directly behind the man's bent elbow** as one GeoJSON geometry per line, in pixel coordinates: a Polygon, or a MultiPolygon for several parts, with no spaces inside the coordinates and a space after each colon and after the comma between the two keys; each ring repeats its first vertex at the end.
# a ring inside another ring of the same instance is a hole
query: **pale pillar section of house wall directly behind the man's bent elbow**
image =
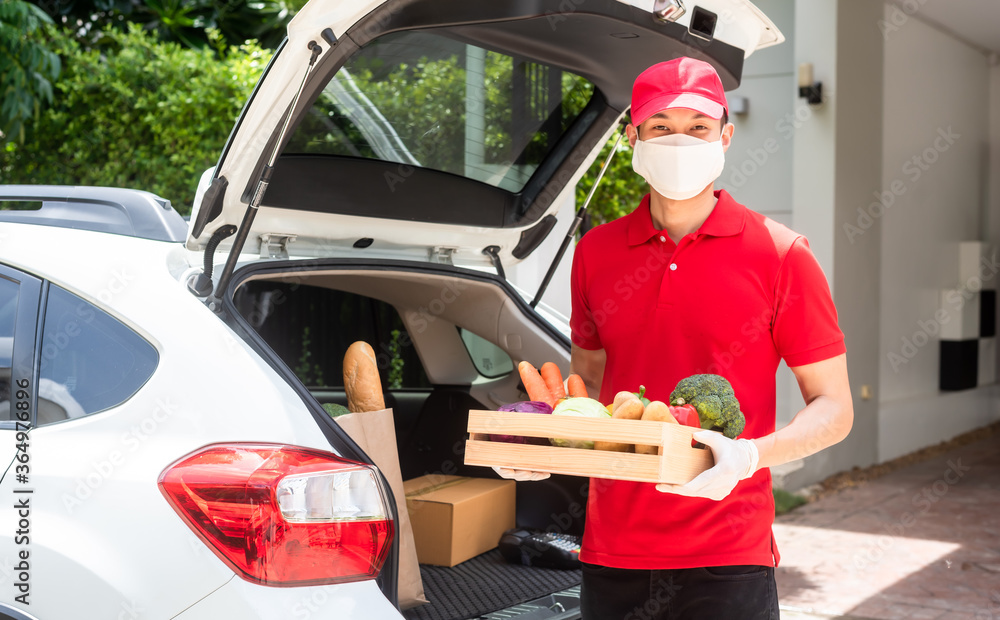
{"type": "Polygon", "coordinates": [[[842,224],[881,181],[881,6],[870,0],[797,0],[795,64],[812,63],[823,102],[796,100],[793,227],[805,234],[833,290],[847,341],[855,421],[843,442],[797,463],[795,488],[877,458],[879,260],[876,222],[850,243],[842,224]],[[874,111],[874,113],[872,112],[874,111]]]}

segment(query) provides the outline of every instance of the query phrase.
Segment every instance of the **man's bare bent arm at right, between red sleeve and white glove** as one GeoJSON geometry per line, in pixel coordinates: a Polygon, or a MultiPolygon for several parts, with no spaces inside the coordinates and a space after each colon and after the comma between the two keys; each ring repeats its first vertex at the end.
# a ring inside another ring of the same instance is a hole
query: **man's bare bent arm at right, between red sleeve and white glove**
{"type": "Polygon", "coordinates": [[[854,424],[846,355],[796,366],[792,372],[806,406],[788,426],[753,440],[760,454],[758,469],[795,461],[828,448],[847,437],[854,424]]]}

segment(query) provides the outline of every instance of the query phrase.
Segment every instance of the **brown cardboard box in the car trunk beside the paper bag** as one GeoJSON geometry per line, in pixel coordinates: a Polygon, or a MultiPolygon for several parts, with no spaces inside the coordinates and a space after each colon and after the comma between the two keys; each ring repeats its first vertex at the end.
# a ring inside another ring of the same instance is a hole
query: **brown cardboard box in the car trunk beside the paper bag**
{"type": "Polygon", "coordinates": [[[514,527],[514,481],[431,474],[403,482],[421,564],[454,566],[514,527]]]}

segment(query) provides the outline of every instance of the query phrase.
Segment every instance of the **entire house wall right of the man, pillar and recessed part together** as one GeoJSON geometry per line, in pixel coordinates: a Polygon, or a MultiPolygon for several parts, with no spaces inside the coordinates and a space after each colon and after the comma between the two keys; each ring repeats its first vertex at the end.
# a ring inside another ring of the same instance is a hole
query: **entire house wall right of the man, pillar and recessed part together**
{"type": "Polygon", "coordinates": [[[939,389],[941,334],[978,308],[946,308],[942,291],[995,288],[1000,271],[1000,63],[919,15],[893,24],[893,7],[794,6],[794,65],[813,64],[824,102],[792,104],[791,223],[834,292],[855,424],[841,444],[777,468],[787,488],[1000,419],[995,381],[939,389]]]}

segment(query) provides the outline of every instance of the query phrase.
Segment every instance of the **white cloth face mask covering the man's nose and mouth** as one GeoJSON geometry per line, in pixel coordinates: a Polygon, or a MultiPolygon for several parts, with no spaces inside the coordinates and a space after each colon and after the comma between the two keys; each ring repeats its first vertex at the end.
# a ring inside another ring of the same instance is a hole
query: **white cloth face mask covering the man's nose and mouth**
{"type": "Polygon", "coordinates": [[[725,163],[722,140],[705,142],[683,133],[636,140],[632,152],[632,169],[673,200],[700,194],[719,178],[725,163]]]}

